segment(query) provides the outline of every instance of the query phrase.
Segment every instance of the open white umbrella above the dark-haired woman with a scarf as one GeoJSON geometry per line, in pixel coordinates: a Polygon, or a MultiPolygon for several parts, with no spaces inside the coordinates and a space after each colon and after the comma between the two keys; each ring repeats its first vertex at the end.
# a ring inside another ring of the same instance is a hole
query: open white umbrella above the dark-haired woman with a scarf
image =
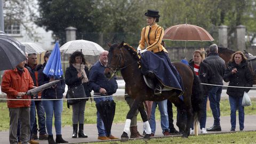
{"type": "Polygon", "coordinates": [[[60,47],[60,51],[63,53],[73,53],[81,50],[84,55],[99,55],[101,51],[104,51],[97,43],[83,39],[69,41],[60,47]]]}

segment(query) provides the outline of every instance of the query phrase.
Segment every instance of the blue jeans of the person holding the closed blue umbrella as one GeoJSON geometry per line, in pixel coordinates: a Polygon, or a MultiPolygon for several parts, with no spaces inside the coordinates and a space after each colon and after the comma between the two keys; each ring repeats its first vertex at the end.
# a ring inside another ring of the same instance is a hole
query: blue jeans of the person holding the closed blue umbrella
{"type": "Polygon", "coordinates": [[[61,113],[63,109],[63,100],[44,100],[43,106],[46,114],[46,129],[49,135],[52,134],[52,117],[54,114],[54,126],[56,135],[61,134],[61,113]]]}

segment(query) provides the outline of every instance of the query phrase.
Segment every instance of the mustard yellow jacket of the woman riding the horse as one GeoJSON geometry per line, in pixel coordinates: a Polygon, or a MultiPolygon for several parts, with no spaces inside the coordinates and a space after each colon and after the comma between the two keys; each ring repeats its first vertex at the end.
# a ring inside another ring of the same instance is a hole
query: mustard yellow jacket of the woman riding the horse
{"type": "Polygon", "coordinates": [[[141,50],[146,49],[154,53],[161,52],[161,51],[167,52],[166,49],[163,47],[163,45],[161,45],[163,36],[164,36],[164,29],[158,26],[157,24],[142,28],[140,44],[139,44],[140,49],[141,50]],[[146,48],[145,48],[145,43],[147,43],[146,48]]]}

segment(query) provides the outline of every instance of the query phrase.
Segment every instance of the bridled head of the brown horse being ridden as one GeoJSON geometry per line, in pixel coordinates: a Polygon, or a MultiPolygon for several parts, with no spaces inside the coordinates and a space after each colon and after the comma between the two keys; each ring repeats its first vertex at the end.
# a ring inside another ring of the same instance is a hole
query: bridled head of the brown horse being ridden
{"type": "Polygon", "coordinates": [[[108,43],[108,46],[110,47],[108,53],[108,65],[104,71],[104,74],[107,78],[111,78],[118,70],[122,70],[132,64],[131,59],[129,59],[129,55],[131,55],[129,50],[131,50],[131,53],[134,55],[136,54],[136,57],[137,52],[135,49],[133,49],[133,47],[124,44],[124,42],[121,44],[108,43]]]}

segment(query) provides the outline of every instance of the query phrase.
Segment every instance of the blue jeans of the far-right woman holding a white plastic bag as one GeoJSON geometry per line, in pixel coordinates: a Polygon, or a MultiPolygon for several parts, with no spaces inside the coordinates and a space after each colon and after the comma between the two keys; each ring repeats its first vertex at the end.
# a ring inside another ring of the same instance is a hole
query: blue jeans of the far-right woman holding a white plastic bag
{"type": "Polygon", "coordinates": [[[241,98],[231,97],[229,96],[229,104],[230,104],[230,123],[231,129],[236,129],[236,110],[238,109],[238,118],[239,118],[239,129],[242,131],[244,129],[244,107],[242,106],[241,98]]]}

